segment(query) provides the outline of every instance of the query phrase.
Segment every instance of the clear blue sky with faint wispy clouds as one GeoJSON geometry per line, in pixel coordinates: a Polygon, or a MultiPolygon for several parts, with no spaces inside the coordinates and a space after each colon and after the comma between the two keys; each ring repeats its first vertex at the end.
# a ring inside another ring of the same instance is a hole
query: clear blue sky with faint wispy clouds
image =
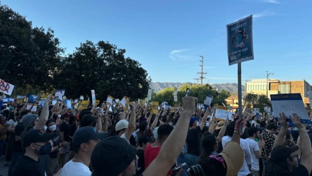
{"type": "Polygon", "coordinates": [[[154,82],[195,82],[204,56],[204,83],[237,83],[228,66],[226,24],[253,14],[252,78],[312,84],[311,0],[1,0],[34,26],[51,27],[66,53],[81,42],[126,49],[154,82]]]}

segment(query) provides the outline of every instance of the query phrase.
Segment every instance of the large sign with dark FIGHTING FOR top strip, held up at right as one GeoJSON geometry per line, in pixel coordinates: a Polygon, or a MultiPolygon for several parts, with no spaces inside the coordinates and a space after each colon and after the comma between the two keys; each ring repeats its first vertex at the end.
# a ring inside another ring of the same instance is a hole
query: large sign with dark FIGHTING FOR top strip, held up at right
{"type": "Polygon", "coordinates": [[[271,95],[271,103],[275,119],[279,118],[279,114],[283,112],[286,115],[286,120],[292,122],[289,116],[292,116],[292,113],[296,113],[300,117],[301,123],[311,124],[300,93],[271,95]]]}

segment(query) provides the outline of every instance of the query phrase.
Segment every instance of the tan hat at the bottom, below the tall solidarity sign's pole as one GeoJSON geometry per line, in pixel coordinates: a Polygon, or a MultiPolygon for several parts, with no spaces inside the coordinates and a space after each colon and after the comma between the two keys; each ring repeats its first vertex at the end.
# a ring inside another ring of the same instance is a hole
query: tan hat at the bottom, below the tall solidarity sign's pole
{"type": "Polygon", "coordinates": [[[234,141],[228,142],[220,153],[226,162],[227,176],[236,176],[244,163],[243,150],[234,141]]]}

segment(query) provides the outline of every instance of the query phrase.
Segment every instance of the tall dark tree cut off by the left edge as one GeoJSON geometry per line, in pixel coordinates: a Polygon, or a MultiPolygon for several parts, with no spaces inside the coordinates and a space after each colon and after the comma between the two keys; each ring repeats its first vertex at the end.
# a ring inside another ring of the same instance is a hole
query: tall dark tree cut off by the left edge
{"type": "Polygon", "coordinates": [[[25,17],[0,5],[0,78],[15,85],[15,93],[51,90],[62,52],[52,29],[33,28],[25,17]]]}

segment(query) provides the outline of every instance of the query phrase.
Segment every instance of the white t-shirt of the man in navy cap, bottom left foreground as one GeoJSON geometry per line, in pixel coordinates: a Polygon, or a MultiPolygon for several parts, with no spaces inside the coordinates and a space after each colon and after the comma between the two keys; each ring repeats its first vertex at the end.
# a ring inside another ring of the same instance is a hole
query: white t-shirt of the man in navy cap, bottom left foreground
{"type": "Polygon", "coordinates": [[[91,174],[90,169],[86,165],[73,160],[68,161],[60,172],[60,176],[91,176],[91,174]]]}

